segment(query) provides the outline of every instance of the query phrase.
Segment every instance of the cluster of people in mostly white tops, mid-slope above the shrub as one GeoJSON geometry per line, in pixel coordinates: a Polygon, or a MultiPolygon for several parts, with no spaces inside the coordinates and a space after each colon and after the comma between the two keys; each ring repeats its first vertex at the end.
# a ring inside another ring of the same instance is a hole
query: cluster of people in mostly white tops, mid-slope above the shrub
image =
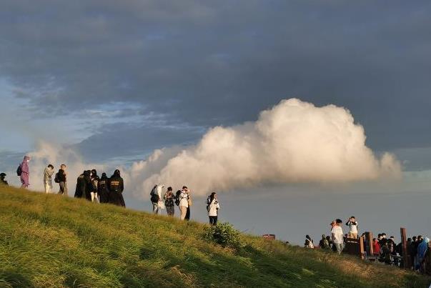
{"type": "MultiPolygon", "coordinates": [[[[192,207],[192,193],[187,186],[183,186],[182,189],[177,190],[174,194],[172,187],[168,187],[167,191],[163,194],[163,184],[154,185],[151,190],[150,200],[152,202],[152,208],[154,214],[159,214],[162,209],[166,209],[167,215],[174,217],[175,206],[178,206],[180,219],[190,219],[190,209],[192,207]],[[163,195],[162,195],[163,194],[163,195]]],[[[217,193],[212,192],[207,197],[207,213],[209,217],[209,224],[217,225],[217,219],[219,216],[220,204],[217,199],[217,193]]]]}

